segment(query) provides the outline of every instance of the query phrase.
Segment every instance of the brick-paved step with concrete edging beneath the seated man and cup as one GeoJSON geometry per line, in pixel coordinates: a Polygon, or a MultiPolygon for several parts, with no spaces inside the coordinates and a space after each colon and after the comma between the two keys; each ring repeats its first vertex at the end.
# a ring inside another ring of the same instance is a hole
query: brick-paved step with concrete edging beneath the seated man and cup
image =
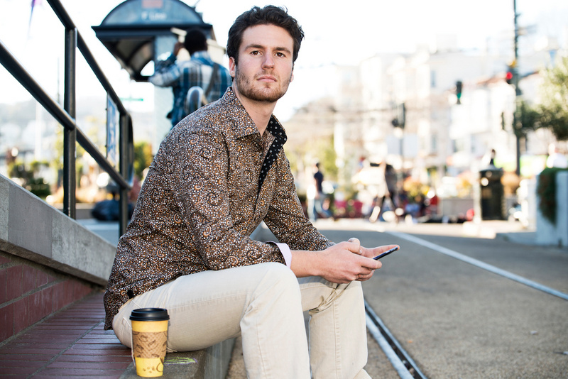
{"type": "MultiPolygon", "coordinates": [[[[1,378],[136,379],[131,349],[105,331],[102,292],[75,302],[0,346],[1,378]]],[[[161,378],[224,378],[234,339],[168,353],[161,378]]]]}

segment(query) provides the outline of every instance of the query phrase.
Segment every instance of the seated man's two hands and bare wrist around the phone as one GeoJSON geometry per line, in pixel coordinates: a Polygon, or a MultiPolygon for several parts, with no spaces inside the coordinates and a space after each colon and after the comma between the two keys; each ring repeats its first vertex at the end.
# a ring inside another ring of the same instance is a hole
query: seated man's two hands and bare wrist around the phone
{"type": "Polygon", "coordinates": [[[324,251],[293,251],[291,268],[298,278],[315,275],[334,283],[369,280],[382,265],[373,257],[393,246],[365,248],[351,238],[324,251]]]}

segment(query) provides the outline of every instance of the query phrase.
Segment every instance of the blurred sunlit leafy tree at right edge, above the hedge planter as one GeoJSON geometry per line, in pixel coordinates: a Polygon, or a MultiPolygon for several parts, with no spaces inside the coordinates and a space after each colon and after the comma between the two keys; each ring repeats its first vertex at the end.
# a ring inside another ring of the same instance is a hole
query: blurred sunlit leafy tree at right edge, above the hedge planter
{"type": "Polygon", "coordinates": [[[558,141],[568,140],[568,57],[545,70],[540,87],[539,126],[549,128],[558,141]]]}

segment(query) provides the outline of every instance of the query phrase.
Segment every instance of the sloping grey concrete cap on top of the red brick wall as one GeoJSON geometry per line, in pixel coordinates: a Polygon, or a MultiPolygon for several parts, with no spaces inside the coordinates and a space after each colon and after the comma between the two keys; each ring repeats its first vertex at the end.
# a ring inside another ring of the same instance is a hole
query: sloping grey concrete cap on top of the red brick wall
{"type": "Polygon", "coordinates": [[[106,286],[116,246],[0,175],[0,250],[106,286]]]}

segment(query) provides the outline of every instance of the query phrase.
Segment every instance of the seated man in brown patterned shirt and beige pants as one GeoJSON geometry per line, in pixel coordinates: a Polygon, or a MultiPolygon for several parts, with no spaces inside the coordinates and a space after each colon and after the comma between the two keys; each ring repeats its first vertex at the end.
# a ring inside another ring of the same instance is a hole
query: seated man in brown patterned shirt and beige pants
{"type": "Polygon", "coordinates": [[[132,310],[158,307],[169,351],[241,335],[248,378],[310,379],[310,368],[316,379],[369,378],[361,281],[392,246],[333,243],[304,215],[273,116],[303,35],[278,7],[241,14],[227,42],[233,86],[161,143],[104,295],[105,328],[122,344],[132,310]],[[261,221],[278,243],[250,238],[261,221]]]}

